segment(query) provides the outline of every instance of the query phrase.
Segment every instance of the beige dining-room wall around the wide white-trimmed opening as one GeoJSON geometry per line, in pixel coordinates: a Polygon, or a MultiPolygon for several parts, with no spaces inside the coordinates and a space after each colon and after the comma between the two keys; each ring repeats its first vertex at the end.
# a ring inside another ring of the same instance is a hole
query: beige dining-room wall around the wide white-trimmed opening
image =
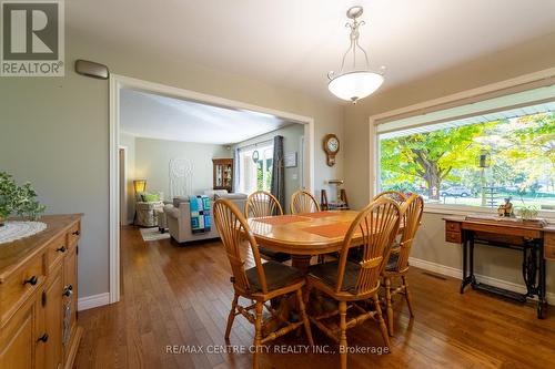
{"type": "MultiPolygon", "coordinates": [[[[68,18],[72,3],[65,2],[68,18]]],[[[74,73],[75,59],[107,64],[112,73],[312,116],[316,187],[343,175],[342,153],[337,165],[327,167],[320,148],[326,133],[343,139],[343,110],[335,103],[113,40],[89,39],[78,29],[65,33],[64,78],[0,79],[0,168],[18,182],[31,181],[49,214],[84,214],[80,297],[109,290],[109,88],[108,81],[74,73]]]]}

